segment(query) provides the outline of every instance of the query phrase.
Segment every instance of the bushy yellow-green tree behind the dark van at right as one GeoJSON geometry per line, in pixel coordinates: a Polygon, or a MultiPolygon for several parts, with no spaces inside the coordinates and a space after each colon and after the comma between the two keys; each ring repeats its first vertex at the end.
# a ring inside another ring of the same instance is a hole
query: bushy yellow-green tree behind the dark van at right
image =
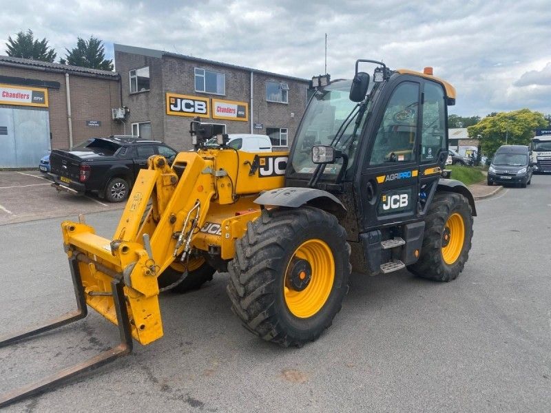
{"type": "Polygon", "coordinates": [[[494,156],[501,145],[528,145],[534,130],[548,125],[543,114],[530,109],[490,114],[477,125],[468,127],[472,138],[480,138],[482,151],[486,156],[494,156]]]}

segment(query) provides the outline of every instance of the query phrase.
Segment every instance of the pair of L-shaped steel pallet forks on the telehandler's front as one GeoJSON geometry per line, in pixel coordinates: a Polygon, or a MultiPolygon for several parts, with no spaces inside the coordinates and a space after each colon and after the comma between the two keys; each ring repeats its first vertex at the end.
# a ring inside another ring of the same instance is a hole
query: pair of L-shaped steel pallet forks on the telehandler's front
{"type": "MultiPolygon", "coordinates": [[[[25,330],[18,332],[15,335],[10,335],[7,337],[0,337],[0,347],[8,346],[17,341],[28,339],[34,336],[37,336],[43,332],[54,330],[55,328],[65,326],[74,321],[78,321],[86,317],[88,310],[86,306],[85,292],[81,280],[81,273],[79,271],[79,260],[80,255],[69,258],[69,265],[72,275],[72,282],[74,286],[74,295],[76,297],[76,310],[71,313],[67,313],[62,317],[51,320],[49,323],[33,328],[31,330],[25,330]]],[[[72,377],[80,374],[82,372],[87,372],[94,370],[100,366],[103,366],[110,361],[114,361],[119,357],[123,357],[126,354],[132,352],[132,334],[128,322],[128,313],[127,306],[125,302],[125,295],[123,292],[124,281],[122,277],[120,279],[114,278],[111,282],[112,287],[112,297],[114,301],[114,306],[116,310],[116,318],[118,321],[118,332],[121,336],[121,343],[110,350],[101,352],[90,359],[82,361],[81,363],[75,364],[51,374],[48,377],[44,377],[39,381],[24,385],[21,388],[10,390],[4,394],[0,395],[0,407],[5,407],[14,403],[16,401],[21,401],[26,399],[29,396],[34,396],[42,392],[51,390],[56,385],[64,383],[71,379],[72,377]]]]}

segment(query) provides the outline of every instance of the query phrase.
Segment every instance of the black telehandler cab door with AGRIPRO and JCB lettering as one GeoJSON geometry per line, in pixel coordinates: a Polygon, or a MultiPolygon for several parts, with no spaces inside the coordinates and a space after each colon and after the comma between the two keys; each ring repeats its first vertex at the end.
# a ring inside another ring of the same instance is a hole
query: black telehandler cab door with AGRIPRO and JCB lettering
{"type": "Polygon", "coordinates": [[[360,179],[364,231],[417,217],[422,83],[407,79],[395,83],[371,132],[360,179]]]}

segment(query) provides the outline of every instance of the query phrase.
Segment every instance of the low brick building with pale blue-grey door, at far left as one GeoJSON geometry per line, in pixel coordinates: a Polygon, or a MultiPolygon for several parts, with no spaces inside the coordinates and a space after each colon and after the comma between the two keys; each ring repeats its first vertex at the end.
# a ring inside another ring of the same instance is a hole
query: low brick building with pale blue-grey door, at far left
{"type": "Polygon", "coordinates": [[[119,85],[115,72],[0,56],[0,167],[37,167],[51,148],[120,134],[119,85]]]}

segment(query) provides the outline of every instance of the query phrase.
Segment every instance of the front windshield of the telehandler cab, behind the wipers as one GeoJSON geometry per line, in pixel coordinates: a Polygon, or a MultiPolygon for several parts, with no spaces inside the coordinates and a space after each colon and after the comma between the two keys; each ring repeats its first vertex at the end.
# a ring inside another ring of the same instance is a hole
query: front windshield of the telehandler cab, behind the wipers
{"type": "MultiPolygon", "coordinates": [[[[316,92],[306,108],[295,140],[291,173],[313,173],[316,167],[312,162],[313,145],[331,145],[339,129],[339,135],[342,133],[342,136],[333,142],[333,146],[349,157],[348,169],[353,165],[358,137],[362,131],[368,109],[363,112],[362,118],[357,122],[357,103],[349,98],[351,85],[352,81],[338,81],[326,87],[322,92],[316,92]],[[351,112],[353,112],[353,116],[346,120],[351,112]]],[[[334,164],[327,164],[324,176],[330,176],[332,180],[335,180],[341,166],[342,158],[334,164]]]]}

